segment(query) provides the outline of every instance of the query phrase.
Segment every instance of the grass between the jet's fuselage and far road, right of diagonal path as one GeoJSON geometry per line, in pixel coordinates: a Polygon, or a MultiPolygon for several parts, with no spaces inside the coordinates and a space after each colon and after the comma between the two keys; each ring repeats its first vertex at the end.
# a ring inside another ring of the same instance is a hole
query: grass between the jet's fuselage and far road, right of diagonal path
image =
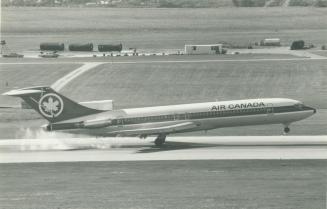
{"type": "Polygon", "coordinates": [[[68,84],[63,93],[79,101],[113,99],[116,108],[288,97],[324,109],[326,64],[325,60],[103,64],[68,84]]]}

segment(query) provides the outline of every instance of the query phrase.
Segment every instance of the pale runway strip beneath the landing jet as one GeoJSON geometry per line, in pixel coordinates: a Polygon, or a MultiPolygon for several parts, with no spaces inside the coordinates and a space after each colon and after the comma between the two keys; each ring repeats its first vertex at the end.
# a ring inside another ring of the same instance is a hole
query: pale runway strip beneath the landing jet
{"type": "Polygon", "coordinates": [[[0,163],[218,159],[327,159],[327,136],[62,138],[0,141],[0,163]]]}

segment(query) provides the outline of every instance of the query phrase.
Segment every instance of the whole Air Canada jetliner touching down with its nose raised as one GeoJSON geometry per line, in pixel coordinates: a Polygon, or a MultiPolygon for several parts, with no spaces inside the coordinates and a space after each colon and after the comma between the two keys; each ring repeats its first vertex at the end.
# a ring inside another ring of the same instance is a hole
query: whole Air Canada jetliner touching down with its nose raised
{"type": "Polygon", "coordinates": [[[222,127],[283,124],[305,119],[316,109],[286,98],[247,99],[104,111],[83,106],[50,87],[12,90],[3,95],[21,97],[49,124],[46,130],[60,130],[96,136],[155,135],[157,146],[172,133],[222,127]]]}

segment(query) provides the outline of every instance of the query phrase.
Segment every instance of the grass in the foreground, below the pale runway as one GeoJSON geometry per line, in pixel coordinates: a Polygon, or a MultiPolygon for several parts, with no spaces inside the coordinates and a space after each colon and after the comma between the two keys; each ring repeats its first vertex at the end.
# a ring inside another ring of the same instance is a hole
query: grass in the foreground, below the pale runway
{"type": "Polygon", "coordinates": [[[0,165],[1,207],[324,209],[326,161],[0,165]]]}

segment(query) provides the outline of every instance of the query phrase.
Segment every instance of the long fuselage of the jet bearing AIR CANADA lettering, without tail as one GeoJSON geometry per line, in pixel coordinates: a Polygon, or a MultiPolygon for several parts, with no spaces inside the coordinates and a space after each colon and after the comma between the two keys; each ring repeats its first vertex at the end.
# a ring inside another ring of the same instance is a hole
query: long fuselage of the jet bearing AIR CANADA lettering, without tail
{"type": "MultiPolygon", "coordinates": [[[[284,124],[288,126],[315,112],[314,108],[304,106],[296,100],[267,98],[121,109],[85,116],[80,120],[89,123],[110,121],[110,125],[106,127],[83,129],[86,133],[95,135],[124,135],[126,130],[160,129],[183,122],[196,124],[191,128],[182,130],[176,128],[166,133],[170,134],[248,125],[284,124]]],[[[78,133],[81,129],[69,131],[78,133]]],[[[145,135],[152,134],[157,133],[153,131],[145,135]]],[[[142,135],[142,131],[136,135],[142,135]]]]}

